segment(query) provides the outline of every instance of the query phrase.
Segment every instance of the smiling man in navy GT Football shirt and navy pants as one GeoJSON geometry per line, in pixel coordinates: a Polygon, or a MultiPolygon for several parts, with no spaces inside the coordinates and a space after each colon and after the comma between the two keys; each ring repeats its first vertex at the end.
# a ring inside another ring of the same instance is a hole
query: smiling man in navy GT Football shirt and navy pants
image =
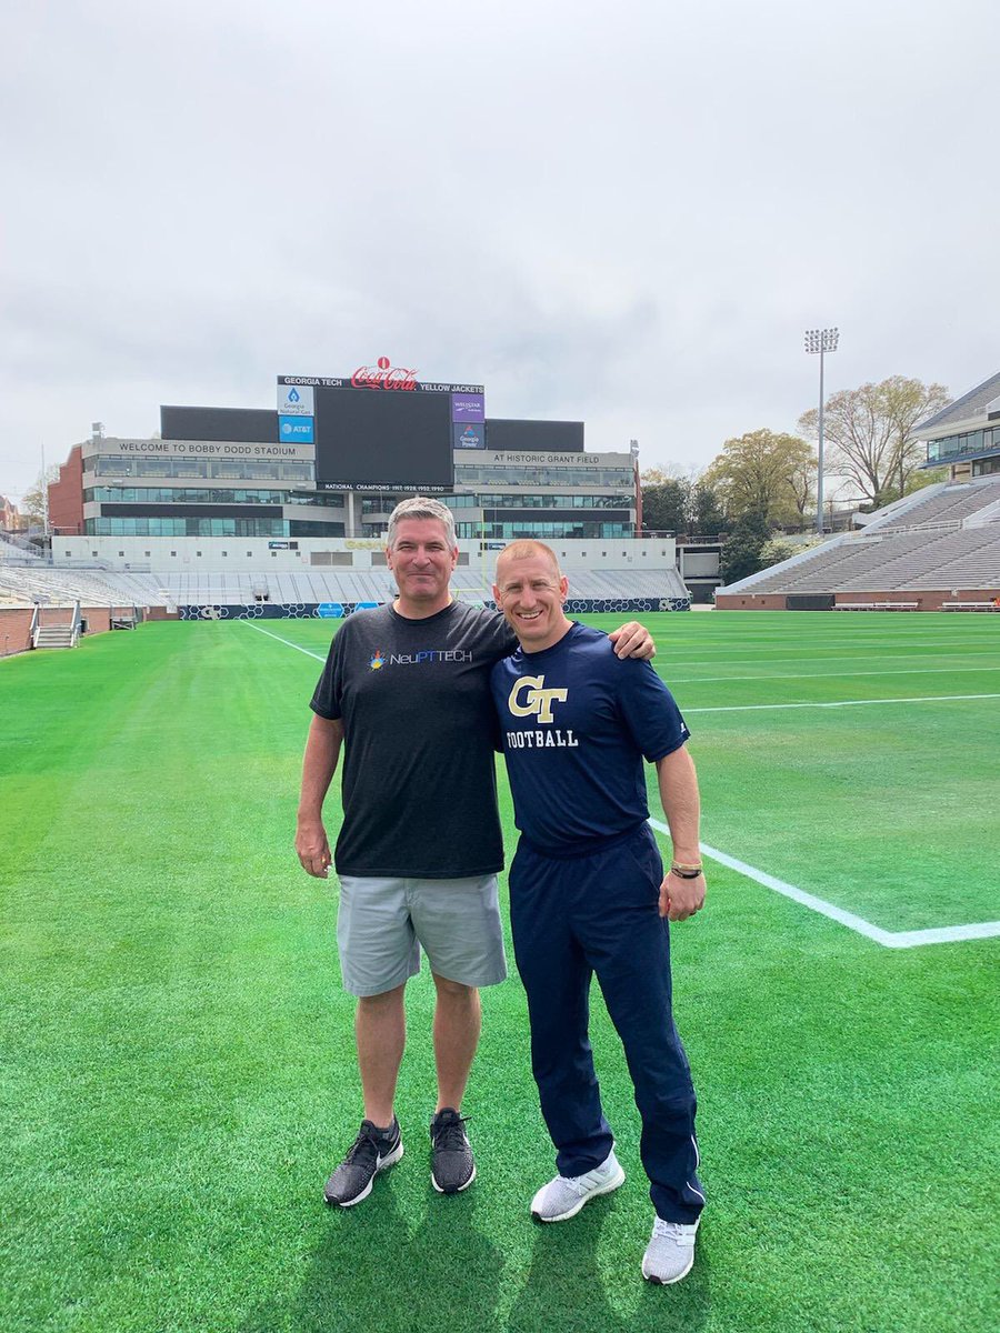
{"type": "Polygon", "coordinates": [[[668,921],[704,904],[699,792],[688,729],[648,663],[567,619],[555,552],[515,541],[493,596],[520,648],[492,670],[520,829],[511,924],[531,1016],[532,1069],[559,1174],[532,1200],[541,1222],[573,1217],[624,1181],[588,1040],[597,974],[643,1120],[656,1218],[643,1276],[671,1284],[693,1264],[704,1206],[695,1089],[671,1009],[668,921]],[[673,841],[664,877],[649,829],[644,760],[657,770],[673,841]]]}

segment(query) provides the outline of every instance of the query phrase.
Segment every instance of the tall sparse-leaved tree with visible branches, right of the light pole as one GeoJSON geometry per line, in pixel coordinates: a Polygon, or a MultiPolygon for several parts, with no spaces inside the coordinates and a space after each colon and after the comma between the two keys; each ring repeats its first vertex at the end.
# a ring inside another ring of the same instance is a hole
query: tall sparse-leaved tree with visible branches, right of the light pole
{"type": "MultiPolygon", "coordinates": [[[[823,435],[829,445],[824,471],[849,477],[877,509],[895,488],[905,495],[913,469],[925,460],[913,429],[949,401],[943,384],[921,384],[893,375],[880,384],[841,389],[823,404],[823,435]]],[[[819,435],[819,412],[799,417],[803,435],[819,435]]]]}

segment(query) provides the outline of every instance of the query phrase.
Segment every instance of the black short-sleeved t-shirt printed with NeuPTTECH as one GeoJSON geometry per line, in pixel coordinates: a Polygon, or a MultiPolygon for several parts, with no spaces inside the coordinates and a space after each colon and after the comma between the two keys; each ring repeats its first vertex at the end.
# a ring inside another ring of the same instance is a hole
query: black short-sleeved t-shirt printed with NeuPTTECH
{"type": "Polygon", "coordinates": [[[516,647],[501,616],[460,601],[425,620],[379,607],[344,623],[309,705],[344,722],[340,874],[503,868],[489,672],[516,647]]]}

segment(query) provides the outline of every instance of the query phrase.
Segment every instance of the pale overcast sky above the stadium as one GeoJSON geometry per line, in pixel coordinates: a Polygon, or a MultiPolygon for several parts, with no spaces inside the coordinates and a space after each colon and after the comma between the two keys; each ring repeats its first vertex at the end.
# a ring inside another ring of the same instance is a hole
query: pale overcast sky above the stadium
{"type": "Polygon", "coordinates": [[[703,467],[1000,369],[995,0],[59,0],[3,20],[0,493],[388,356],[703,467]]]}

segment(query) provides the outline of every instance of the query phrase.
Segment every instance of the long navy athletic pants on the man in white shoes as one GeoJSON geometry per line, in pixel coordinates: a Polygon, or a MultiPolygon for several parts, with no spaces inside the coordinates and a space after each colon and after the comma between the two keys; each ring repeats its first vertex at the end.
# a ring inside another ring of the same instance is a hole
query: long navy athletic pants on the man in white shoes
{"type": "Polygon", "coordinates": [[[571,860],[521,841],[511,865],[511,925],[528,993],[532,1070],[559,1173],[583,1176],[612,1148],[588,1037],[596,973],[632,1074],[653,1206],[667,1221],[693,1222],[705,1198],[696,1174],[695,1089],[671,1010],[661,881],[647,824],[571,860]]]}

